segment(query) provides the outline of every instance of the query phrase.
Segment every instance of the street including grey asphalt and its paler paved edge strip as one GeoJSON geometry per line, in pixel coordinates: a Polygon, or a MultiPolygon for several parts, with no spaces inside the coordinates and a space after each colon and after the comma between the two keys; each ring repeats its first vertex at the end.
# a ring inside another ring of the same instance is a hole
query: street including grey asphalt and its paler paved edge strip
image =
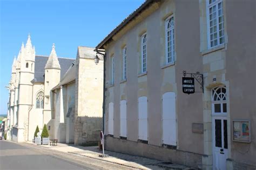
{"type": "Polygon", "coordinates": [[[0,169],[132,169],[122,165],[0,140],[0,169]]]}

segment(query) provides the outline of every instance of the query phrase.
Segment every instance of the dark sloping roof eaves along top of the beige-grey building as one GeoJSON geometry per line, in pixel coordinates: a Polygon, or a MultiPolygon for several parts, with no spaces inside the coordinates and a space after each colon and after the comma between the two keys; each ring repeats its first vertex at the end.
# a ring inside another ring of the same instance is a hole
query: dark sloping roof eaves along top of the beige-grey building
{"type": "Polygon", "coordinates": [[[122,23],[120,23],[113,31],[110,32],[109,35],[107,35],[102,42],[100,42],[97,46],[96,49],[103,49],[103,45],[110,40],[112,40],[112,37],[116,35],[117,32],[122,30],[124,26],[126,26],[130,21],[132,21],[135,17],[139,15],[139,13],[143,12],[147,7],[149,7],[152,3],[154,2],[159,2],[160,0],[145,0],[145,2],[139,6],[136,10],[134,10],[129,16],[127,16],[122,23]]]}

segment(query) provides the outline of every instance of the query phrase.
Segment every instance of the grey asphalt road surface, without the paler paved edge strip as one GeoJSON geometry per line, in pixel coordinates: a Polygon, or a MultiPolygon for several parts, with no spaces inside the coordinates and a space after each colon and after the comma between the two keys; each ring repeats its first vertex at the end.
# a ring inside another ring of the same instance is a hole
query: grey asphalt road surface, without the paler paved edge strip
{"type": "Polygon", "coordinates": [[[36,148],[0,140],[0,169],[95,169],[88,165],[76,165],[36,148]]]}

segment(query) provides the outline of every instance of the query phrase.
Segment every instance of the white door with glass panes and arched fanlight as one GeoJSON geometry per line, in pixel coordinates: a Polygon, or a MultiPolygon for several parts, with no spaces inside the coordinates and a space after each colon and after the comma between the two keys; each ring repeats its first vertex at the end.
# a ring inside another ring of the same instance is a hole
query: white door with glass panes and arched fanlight
{"type": "Polygon", "coordinates": [[[227,104],[225,86],[212,90],[212,139],[213,169],[226,169],[227,144],[227,104]]]}

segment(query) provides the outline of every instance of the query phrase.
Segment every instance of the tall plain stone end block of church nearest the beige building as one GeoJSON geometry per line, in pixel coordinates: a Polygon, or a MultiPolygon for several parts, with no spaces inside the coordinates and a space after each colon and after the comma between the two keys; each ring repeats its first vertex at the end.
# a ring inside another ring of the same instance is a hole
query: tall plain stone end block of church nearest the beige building
{"type": "Polygon", "coordinates": [[[78,47],[76,60],[75,145],[99,141],[102,130],[103,60],[96,52],[78,47]]]}

